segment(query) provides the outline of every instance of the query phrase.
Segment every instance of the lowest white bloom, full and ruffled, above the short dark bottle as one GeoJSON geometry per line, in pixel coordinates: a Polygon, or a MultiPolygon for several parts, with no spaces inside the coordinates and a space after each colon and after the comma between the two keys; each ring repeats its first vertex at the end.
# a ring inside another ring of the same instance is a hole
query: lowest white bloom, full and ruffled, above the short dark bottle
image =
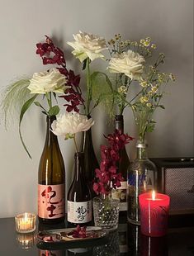
{"type": "Polygon", "coordinates": [[[51,129],[54,135],[74,135],[80,131],[89,130],[94,124],[92,118],[88,119],[87,116],[79,115],[76,112],[64,113],[57,116],[53,121],[51,129]]]}

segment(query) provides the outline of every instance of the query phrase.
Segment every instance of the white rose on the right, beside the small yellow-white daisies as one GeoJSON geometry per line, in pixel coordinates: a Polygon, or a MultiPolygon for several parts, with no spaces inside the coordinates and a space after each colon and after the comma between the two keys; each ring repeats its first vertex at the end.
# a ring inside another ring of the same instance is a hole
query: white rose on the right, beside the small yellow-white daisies
{"type": "Polygon", "coordinates": [[[144,71],[144,62],[143,56],[128,50],[111,58],[108,69],[110,73],[125,73],[129,78],[140,81],[144,71]]]}

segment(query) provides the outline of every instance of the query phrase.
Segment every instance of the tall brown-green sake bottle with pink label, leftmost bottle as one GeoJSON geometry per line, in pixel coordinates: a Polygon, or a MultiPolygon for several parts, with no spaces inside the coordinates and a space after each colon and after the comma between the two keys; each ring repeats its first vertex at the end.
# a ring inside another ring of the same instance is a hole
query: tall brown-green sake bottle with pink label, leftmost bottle
{"type": "Polygon", "coordinates": [[[47,116],[45,147],[38,175],[38,216],[40,222],[55,224],[64,221],[65,169],[57,136],[50,130],[55,116],[47,116]]]}

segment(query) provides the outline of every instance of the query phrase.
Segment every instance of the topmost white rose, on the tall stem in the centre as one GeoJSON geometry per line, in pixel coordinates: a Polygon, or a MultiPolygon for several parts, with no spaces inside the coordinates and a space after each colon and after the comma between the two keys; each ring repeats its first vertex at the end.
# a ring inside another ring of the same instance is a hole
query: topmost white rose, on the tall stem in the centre
{"type": "Polygon", "coordinates": [[[73,55],[76,56],[81,62],[84,59],[97,59],[104,58],[102,50],[106,50],[106,40],[100,36],[94,36],[92,34],[83,33],[79,31],[79,34],[73,35],[74,42],[68,42],[68,45],[73,47],[73,55]]]}

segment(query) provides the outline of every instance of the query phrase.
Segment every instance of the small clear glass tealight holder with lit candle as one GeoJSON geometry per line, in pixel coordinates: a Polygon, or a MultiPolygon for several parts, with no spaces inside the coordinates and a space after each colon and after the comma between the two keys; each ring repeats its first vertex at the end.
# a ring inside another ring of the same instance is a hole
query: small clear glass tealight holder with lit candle
{"type": "Polygon", "coordinates": [[[36,215],[34,213],[21,213],[15,216],[16,230],[18,233],[31,233],[35,231],[36,215]]]}

